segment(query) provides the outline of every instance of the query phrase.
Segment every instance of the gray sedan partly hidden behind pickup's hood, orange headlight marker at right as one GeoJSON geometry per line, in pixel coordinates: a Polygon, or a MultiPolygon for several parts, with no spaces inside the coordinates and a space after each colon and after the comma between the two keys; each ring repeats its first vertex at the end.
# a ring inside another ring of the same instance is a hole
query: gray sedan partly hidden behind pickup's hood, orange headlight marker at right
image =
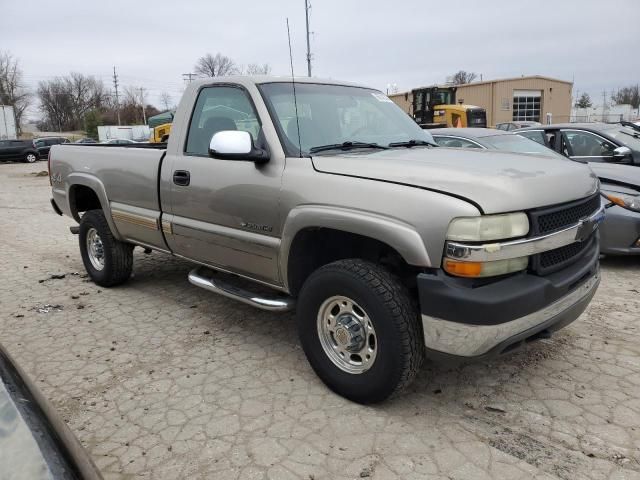
{"type": "MultiPolygon", "coordinates": [[[[486,128],[443,128],[434,131],[433,138],[443,147],[503,150],[566,160],[541,143],[511,132],[486,128]]],[[[589,166],[600,179],[602,202],[607,209],[600,227],[600,252],[608,255],[640,254],[640,171],[633,166],[614,163],[589,162],[589,166]]]]}

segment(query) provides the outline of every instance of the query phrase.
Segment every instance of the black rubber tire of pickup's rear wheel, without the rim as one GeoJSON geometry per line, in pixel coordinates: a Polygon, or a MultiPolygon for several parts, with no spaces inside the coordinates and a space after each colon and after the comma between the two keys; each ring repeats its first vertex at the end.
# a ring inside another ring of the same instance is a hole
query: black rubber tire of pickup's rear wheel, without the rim
{"type": "Polygon", "coordinates": [[[102,287],[113,287],[129,279],[133,268],[133,245],[113,238],[102,210],[89,210],[86,212],[80,220],[79,233],[82,262],[94,283],[102,287]],[[92,229],[97,230],[102,241],[104,258],[104,267],[102,269],[94,267],[89,259],[87,235],[92,229]]]}

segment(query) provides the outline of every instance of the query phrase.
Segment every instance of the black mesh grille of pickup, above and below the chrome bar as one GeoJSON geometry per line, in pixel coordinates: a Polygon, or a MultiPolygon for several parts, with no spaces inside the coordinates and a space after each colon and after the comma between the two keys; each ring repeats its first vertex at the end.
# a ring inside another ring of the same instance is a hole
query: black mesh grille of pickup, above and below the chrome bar
{"type": "MultiPolygon", "coordinates": [[[[581,219],[593,215],[600,208],[600,194],[577,200],[575,202],[556,205],[532,211],[532,235],[546,235],[557,232],[578,223],[581,219]]],[[[597,232],[583,242],[575,242],[564,247],[549,250],[531,257],[530,268],[538,275],[548,275],[576,262],[590,251],[596,242],[597,232]]]]}

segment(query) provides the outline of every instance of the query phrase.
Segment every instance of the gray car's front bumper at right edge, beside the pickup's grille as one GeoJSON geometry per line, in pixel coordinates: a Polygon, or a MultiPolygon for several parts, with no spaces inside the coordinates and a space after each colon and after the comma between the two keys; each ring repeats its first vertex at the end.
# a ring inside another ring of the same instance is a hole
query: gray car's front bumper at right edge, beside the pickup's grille
{"type": "Polygon", "coordinates": [[[606,255],[640,255],[640,213],[619,205],[607,208],[600,225],[600,251],[606,255]]]}

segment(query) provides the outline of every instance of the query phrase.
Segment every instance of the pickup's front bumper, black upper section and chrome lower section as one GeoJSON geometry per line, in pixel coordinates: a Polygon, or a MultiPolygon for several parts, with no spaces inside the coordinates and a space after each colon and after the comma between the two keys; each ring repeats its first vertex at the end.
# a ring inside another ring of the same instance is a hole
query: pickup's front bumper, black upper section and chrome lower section
{"type": "Polygon", "coordinates": [[[573,322],[600,283],[597,242],[591,250],[545,277],[522,273],[473,286],[444,274],[419,275],[427,355],[492,357],[573,322]]]}

